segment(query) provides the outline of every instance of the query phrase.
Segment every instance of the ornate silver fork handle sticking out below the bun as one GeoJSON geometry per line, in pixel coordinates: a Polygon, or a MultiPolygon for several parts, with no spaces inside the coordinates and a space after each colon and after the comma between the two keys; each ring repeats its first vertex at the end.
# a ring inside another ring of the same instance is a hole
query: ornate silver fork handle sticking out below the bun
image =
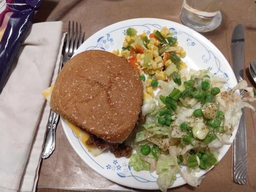
{"type": "Polygon", "coordinates": [[[53,112],[51,109],[48,124],[46,126],[46,138],[44,142],[44,148],[42,151],[43,159],[49,157],[55,149],[55,133],[59,118],[60,116],[57,113],[53,112]]]}

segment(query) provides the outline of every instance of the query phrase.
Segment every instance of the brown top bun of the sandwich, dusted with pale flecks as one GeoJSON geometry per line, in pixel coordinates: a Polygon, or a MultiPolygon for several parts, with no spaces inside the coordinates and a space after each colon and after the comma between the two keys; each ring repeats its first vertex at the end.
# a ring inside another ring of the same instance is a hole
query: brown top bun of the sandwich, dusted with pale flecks
{"type": "Polygon", "coordinates": [[[122,143],[138,120],[143,84],[126,60],[113,53],[84,51],[61,69],[50,107],[97,137],[122,143]]]}

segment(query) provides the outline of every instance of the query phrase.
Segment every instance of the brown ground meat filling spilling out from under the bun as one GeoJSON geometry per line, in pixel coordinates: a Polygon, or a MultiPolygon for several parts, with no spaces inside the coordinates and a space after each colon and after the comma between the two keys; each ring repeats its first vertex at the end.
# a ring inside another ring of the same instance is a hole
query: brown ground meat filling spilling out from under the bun
{"type": "MultiPolygon", "coordinates": [[[[132,133],[137,131],[140,123],[142,123],[144,121],[145,121],[144,116],[141,115],[141,113],[140,113],[138,121],[136,122],[132,133]]],[[[113,153],[115,155],[115,157],[120,157],[120,156],[130,157],[132,154],[132,147],[126,146],[121,143],[110,143],[110,142],[107,142],[99,137],[96,137],[96,135],[93,135],[93,134],[91,134],[91,136],[85,142],[85,144],[88,146],[96,146],[99,149],[103,149],[106,146],[109,146],[110,152],[113,153]]]]}

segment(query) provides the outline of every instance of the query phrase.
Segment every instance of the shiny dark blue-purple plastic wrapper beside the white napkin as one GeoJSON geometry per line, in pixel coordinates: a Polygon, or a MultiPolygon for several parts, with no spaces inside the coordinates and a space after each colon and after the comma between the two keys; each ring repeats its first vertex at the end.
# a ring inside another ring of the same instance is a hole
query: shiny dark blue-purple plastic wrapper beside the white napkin
{"type": "Polygon", "coordinates": [[[0,90],[43,0],[0,0],[0,90]]]}

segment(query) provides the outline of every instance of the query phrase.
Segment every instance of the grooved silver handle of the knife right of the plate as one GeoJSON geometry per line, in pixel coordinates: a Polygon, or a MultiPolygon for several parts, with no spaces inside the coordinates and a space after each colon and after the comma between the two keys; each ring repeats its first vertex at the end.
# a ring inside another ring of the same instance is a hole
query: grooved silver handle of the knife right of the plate
{"type": "Polygon", "coordinates": [[[238,133],[234,140],[234,181],[238,184],[247,183],[247,154],[244,108],[238,125],[238,133]]]}

